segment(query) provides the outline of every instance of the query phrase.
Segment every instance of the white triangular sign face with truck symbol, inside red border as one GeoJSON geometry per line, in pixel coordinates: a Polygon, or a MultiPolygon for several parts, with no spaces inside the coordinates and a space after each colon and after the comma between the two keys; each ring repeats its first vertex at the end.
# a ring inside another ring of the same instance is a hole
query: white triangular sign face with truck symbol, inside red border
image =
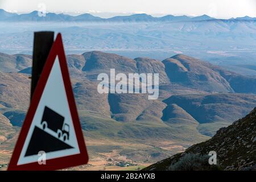
{"type": "Polygon", "coordinates": [[[18,165],[38,162],[39,151],[45,152],[46,160],[80,154],[58,56],[32,119],[18,165]]]}

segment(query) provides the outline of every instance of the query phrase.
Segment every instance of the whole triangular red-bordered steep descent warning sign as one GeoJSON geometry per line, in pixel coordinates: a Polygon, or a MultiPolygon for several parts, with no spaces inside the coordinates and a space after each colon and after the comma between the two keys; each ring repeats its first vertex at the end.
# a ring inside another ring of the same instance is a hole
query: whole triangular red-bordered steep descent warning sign
{"type": "Polygon", "coordinates": [[[8,170],[55,170],[88,162],[58,34],[39,78],[8,170]]]}

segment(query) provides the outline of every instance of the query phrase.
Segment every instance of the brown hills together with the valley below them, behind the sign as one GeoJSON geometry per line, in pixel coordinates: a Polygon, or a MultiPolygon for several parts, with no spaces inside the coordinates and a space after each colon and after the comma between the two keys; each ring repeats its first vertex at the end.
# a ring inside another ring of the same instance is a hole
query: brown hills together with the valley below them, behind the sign
{"type": "MultiPolygon", "coordinates": [[[[106,159],[104,152],[114,151],[133,161],[155,162],[209,139],[256,105],[255,77],[186,55],[160,61],[90,51],[67,55],[67,61],[85,139],[93,141],[88,146],[93,159],[106,159]],[[159,73],[159,99],[99,94],[97,75],[109,74],[110,68],[116,74],[159,73]]],[[[5,151],[5,162],[30,101],[31,63],[30,55],[0,54],[0,156],[5,151]]]]}

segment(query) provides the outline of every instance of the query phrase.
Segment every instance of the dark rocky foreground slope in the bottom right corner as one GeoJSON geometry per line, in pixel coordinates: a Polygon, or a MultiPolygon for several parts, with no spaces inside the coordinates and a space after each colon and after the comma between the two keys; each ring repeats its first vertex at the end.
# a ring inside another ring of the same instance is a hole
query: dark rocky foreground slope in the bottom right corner
{"type": "Polygon", "coordinates": [[[195,144],[185,152],[152,164],[144,170],[183,169],[256,170],[256,107],[246,117],[218,130],[208,141],[195,144]],[[210,151],[217,154],[217,166],[207,163],[209,156],[205,156],[210,151]]]}

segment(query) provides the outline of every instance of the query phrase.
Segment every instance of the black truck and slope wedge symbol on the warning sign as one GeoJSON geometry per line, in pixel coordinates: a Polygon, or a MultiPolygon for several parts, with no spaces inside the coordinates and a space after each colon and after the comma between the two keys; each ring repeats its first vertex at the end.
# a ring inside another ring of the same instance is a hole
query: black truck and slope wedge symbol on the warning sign
{"type": "Polygon", "coordinates": [[[53,152],[73,148],[65,143],[69,139],[69,125],[64,123],[64,119],[62,115],[45,106],[40,122],[42,129],[35,126],[25,156],[37,155],[39,151],[53,152]]]}

